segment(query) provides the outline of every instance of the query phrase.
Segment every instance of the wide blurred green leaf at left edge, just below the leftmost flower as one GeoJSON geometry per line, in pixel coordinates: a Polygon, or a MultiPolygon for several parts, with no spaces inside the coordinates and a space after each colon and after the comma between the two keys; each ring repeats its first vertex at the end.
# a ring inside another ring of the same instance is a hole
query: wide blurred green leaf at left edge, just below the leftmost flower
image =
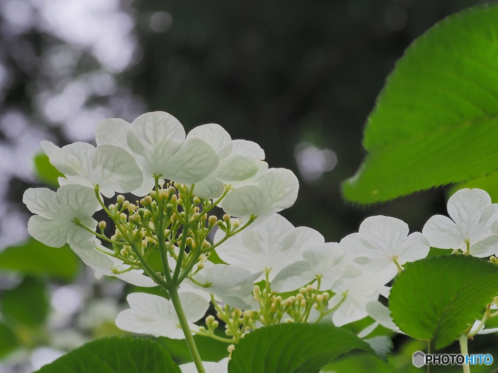
{"type": "Polygon", "coordinates": [[[35,239],[11,246],[0,253],[0,271],[9,270],[30,276],[49,275],[60,280],[73,280],[80,261],[69,248],[48,247],[35,239]]]}

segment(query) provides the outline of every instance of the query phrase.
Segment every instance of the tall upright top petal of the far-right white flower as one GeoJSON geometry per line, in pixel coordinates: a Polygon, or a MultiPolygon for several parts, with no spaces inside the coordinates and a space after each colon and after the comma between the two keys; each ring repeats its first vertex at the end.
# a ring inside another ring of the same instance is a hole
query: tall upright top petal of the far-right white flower
{"type": "Polygon", "coordinates": [[[448,214],[468,237],[478,226],[481,214],[489,205],[491,197],[486,191],[464,188],[448,199],[448,214]]]}

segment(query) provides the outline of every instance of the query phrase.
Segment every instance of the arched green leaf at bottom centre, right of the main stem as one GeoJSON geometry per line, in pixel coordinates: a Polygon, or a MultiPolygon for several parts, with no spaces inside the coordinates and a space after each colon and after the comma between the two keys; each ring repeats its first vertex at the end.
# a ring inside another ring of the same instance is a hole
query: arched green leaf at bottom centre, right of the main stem
{"type": "Polygon", "coordinates": [[[373,353],[364,340],[332,325],[280,324],[246,335],[232,353],[229,373],[317,373],[354,349],[373,353]]]}

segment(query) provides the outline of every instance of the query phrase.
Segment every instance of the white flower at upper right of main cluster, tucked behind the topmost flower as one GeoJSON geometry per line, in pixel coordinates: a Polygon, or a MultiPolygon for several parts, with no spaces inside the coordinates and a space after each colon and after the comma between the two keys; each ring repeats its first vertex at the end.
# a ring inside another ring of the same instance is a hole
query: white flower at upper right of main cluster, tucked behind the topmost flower
{"type": "MultiPolygon", "coordinates": [[[[194,194],[201,198],[219,197],[225,184],[251,183],[259,170],[265,169],[264,151],[259,145],[247,140],[234,140],[218,124],[209,123],[193,128],[187,139],[198,138],[209,144],[218,154],[220,163],[216,170],[195,184],[194,194]]],[[[266,165],[267,169],[267,165],[266,165]]]]}

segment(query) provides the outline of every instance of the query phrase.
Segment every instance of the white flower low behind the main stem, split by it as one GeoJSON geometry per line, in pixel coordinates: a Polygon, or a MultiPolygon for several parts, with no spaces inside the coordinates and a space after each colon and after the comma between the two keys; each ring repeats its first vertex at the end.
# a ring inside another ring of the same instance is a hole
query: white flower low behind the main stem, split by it
{"type": "MultiPolygon", "coordinates": [[[[194,322],[204,317],[209,303],[202,296],[191,292],[181,292],[179,297],[190,329],[198,330],[194,322]]],[[[128,294],[126,300],[130,308],[120,312],[116,318],[116,326],[121,330],[154,337],[185,338],[170,300],[139,292],[128,294]]]]}

